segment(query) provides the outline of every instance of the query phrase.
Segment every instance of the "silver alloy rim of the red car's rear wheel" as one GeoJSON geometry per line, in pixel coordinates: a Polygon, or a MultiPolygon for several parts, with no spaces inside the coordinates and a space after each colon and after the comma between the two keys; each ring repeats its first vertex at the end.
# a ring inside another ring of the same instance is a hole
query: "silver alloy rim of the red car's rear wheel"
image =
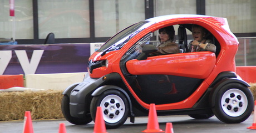
{"type": "Polygon", "coordinates": [[[221,108],[229,116],[243,115],[247,106],[248,99],[242,90],[229,89],[221,97],[221,108]]]}

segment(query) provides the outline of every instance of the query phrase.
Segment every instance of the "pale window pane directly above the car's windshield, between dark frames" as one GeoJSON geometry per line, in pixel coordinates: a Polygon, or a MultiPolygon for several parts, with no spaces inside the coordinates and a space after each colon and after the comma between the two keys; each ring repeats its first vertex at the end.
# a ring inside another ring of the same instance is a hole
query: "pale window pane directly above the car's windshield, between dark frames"
{"type": "Polygon", "coordinates": [[[95,37],[111,37],[145,20],[144,0],[95,0],[95,37]]]}

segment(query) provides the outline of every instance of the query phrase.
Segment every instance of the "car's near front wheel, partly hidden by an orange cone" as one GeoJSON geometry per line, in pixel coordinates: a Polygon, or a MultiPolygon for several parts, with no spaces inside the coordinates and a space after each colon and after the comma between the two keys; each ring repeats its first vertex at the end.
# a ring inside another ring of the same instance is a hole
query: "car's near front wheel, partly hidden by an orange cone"
{"type": "Polygon", "coordinates": [[[106,129],[120,127],[129,114],[129,102],[125,95],[118,90],[107,90],[99,96],[93,96],[90,107],[93,121],[95,121],[98,106],[102,108],[106,129]]]}

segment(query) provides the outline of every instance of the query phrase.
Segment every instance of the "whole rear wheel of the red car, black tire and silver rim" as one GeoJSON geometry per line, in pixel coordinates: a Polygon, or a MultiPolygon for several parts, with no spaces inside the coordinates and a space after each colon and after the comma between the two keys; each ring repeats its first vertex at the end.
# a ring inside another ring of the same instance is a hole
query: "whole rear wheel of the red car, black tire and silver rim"
{"type": "Polygon", "coordinates": [[[240,123],[248,119],[253,108],[253,95],[247,86],[229,83],[216,93],[213,112],[225,123],[240,123]]]}

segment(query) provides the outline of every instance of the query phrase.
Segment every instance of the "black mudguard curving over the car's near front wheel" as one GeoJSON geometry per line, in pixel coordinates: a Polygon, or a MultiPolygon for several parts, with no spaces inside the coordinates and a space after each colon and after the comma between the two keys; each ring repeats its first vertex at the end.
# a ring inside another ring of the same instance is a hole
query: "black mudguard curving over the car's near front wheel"
{"type": "Polygon", "coordinates": [[[104,91],[110,90],[110,89],[119,90],[119,91],[121,91],[121,93],[123,93],[123,94],[126,96],[128,102],[129,102],[129,107],[130,107],[130,121],[131,121],[132,123],[134,123],[134,121],[135,121],[135,115],[134,115],[134,113],[133,113],[133,111],[132,111],[131,99],[130,99],[130,96],[127,94],[127,92],[126,92],[124,89],[122,89],[122,88],[120,88],[119,86],[116,86],[116,85],[104,85],[104,86],[100,86],[100,87],[97,88],[95,91],[93,91],[92,96],[100,95],[100,94],[102,94],[104,91]]]}

